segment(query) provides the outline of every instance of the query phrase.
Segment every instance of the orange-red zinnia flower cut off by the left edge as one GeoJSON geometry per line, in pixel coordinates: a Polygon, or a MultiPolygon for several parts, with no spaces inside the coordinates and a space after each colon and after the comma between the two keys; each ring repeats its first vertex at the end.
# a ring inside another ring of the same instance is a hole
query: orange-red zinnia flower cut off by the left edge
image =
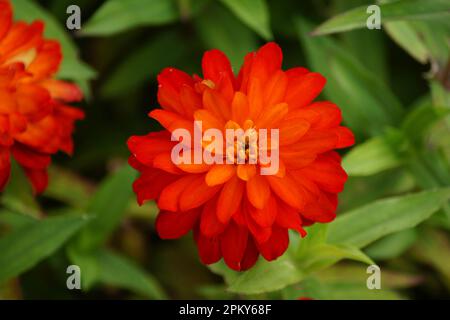
{"type": "Polygon", "coordinates": [[[65,103],[80,101],[73,84],[52,79],[61,63],[58,42],[46,40],[44,24],[13,22],[8,0],[0,0],[0,191],[11,171],[11,156],[35,192],[47,186],[50,156],[72,153],[74,121],[83,112],[65,103]]]}

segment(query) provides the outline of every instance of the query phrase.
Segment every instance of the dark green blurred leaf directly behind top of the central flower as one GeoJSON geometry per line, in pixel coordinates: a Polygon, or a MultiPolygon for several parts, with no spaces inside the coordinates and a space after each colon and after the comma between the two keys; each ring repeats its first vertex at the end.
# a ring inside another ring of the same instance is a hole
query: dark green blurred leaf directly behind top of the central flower
{"type": "Polygon", "coordinates": [[[234,70],[239,70],[244,56],[257,48],[254,33],[221,6],[211,5],[208,14],[195,20],[195,26],[205,46],[222,50],[234,70]]]}

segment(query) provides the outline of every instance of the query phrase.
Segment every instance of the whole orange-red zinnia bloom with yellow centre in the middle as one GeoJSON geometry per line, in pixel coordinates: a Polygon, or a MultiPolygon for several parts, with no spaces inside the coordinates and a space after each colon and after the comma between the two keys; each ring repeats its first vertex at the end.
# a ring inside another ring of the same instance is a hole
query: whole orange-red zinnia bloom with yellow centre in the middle
{"type": "Polygon", "coordinates": [[[246,270],[260,254],[269,261],[282,255],[288,229],[305,236],[303,226],[335,218],[347,175],[333,150],[352,145],[353,134],[340,126],[336,105],[313,102],[323,76],[305,68],[283,71],[281,63],[281,49],[268,43],[245,57],[237,76],[218,50],[204,54],[203,78],[163,70],[162,109],[150,117],[166,130],[128,141],[129,162],[141,173],[133,188],[139,203],[156,200],[158,234],[174,239],[192,229],[205,264],[223,257],[230,268],[246,270]],[[194,120],[203,130],[279,129],[277,173],[261,175],[259,162],[174,164],[171,132],[192,132],[194,120]]]}

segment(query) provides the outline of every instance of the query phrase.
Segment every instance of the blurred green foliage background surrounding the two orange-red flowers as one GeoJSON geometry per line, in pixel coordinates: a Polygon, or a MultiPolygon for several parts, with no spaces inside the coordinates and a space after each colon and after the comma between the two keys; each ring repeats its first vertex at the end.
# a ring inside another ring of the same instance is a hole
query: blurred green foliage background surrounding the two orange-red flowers
{"type": "Polygon", "coordinates": [[[380,1],[381,30],[365,27],[364,0],[12,2],[16,19],[44,19],[63,44],[59,77],[83,88],[86,119],[44,195],[34,199],[19,170],[1,195],[0,297],[450,298],[450,1],[380,1]],[[65,28],[72,4],[79,31],[65,28]],[[237,71],[271,40],[284,68],[327,77],[321,98],[342,108],[357,143],[344,158],[340,218],[300,243],[293,235],[281,261],[236,275],[203,266],[191,236],[158,239],[157,208],[131,192],[126,140],[159,129],[147,113],[164,67],[200,73],[203,52],[218,48],[237,71]],[[373,261],[381,290],[366,287],[373,261]],[[82,291],[66,288],[70,264],[82,291]]]}

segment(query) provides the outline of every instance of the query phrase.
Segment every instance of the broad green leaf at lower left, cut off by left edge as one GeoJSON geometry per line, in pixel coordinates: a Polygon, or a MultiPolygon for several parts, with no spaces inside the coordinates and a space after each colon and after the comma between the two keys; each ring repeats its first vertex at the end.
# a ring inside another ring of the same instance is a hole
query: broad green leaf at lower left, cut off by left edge
{"type": "Polygon", "coordinates": [[[64,215],[25,224],[0,239],[0,283],[18,276],[53,254],[87,222],[64,215]]]}

